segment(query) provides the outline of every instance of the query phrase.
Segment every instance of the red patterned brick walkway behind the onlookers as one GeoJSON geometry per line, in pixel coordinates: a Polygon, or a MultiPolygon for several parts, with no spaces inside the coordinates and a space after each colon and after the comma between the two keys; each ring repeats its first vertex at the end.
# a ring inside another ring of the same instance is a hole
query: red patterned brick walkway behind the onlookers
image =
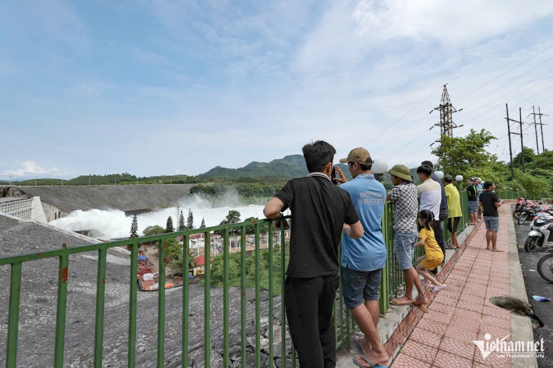
{"type": "Polygon", "coordinates": [[[486,250],[486,227],[481,223],[447,277],[447,289],[438,292],[431,312],[416,325],[392,368],[510,368],[509,358],[490,354],[482,359],[472,342],[484,340],[486,333],[492,340],[510,333],[510,312],[488,301],[509,295],[507,221],[512,221],[507,210],[500,209],[497,248],[503,253],[486,250]]]}

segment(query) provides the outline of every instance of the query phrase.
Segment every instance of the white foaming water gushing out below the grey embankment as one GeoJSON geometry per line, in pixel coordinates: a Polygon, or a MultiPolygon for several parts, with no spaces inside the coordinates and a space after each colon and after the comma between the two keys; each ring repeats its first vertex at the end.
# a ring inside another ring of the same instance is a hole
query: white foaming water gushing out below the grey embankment
{"type": "MultiPolygon", "coordinates": [[[[212,202],[199,196],[190,196],[180,201],[179,215],[182,210],[185,221],[188,210],[191,209],[194,215],[194,226],[200,227],[202,217],[205,218],[206,226],[216,226],[227,216],[229,210],[240,212],[240,219],[247,217],[264,218],[262,205],[240,204],[236,196],[226,196],[217,202],[212,202]],[[222,206],[222,204],[225,204],[222,206]]],[[[173,225],[176,227],[178,216],[177,207],[159,209],[152,212],[137,215],[138,233],[153,225],[165,227],[167,218],[173,217],[173,225]]],[[[125,238],[131,231],[133,216],[126,216],[120,210],[92,209],[88,211],[76,210],[69,215],[51,221],[54,226],[71,231],[93,230],[92,237],[97,239],[125,238]]]]}

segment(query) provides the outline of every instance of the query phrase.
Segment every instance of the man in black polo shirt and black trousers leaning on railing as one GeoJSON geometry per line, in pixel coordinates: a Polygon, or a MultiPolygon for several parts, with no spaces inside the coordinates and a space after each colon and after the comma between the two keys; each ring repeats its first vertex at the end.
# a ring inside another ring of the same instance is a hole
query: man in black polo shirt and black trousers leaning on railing
{"type": "Polygon", "coordinates": [[[358,239],[363,226],[347,191],[331,182],[336,150],[324,141],[303,147],[310,174],[290,180],[263,210],[292,214],[290,262],[284,293],[290,335],[301,368],[336,366],[332,307],[338,289],[338,243],[343,231],[358,239]],[[346,225],[345,225],[346,224],[346,225]]]}

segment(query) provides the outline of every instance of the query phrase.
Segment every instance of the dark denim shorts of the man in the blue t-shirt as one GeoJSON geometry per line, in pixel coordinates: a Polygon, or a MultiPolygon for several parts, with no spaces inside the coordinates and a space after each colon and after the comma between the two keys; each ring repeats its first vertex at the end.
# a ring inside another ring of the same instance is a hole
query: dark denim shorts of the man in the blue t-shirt
{"type": "Polygon", "coordinates": [[[365,300],[378,300],[378,287],[382,279],[382,268],[374,271],[357,271],[342,267],[342,292],[348,309],[357,308],[365,300]]]}

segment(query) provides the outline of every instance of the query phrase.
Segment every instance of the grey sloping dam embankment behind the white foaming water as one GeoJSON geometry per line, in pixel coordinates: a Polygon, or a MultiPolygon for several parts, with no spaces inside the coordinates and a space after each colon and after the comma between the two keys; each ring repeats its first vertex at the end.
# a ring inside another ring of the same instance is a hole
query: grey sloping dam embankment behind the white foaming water
{"type": "MultiPolygon", "coordinates": [[[[40,196],[64,212],[112,208],[136,211],[178,204],[195,184],[19,186],[15,195],[40,196]]],[[[204,184],[209,185],[209,184],[204,184]]]]}

